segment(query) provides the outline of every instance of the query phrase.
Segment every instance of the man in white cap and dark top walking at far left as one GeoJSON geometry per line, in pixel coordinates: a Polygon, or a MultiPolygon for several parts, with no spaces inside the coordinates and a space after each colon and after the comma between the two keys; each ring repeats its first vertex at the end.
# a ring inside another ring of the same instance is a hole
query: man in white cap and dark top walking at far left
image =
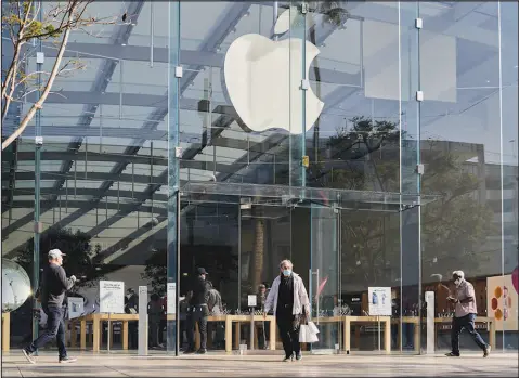
{"type": "Polygon", "coordinates": [[[76,359],[67,356],[65,349],[65,322],[63,312],[63,300],[65,292],[70,290],[76,282],[75,276],[67,278],[63,269],[63,256],[60,249],[49,251],[49,265],[43,270],[38,299],[41,308],[47,315],[47,329],[34,340],[22,352],[31,364],[36,363],[34,354],[36,351],[56,338],[60,363],[72,363],[76,359]]]}

